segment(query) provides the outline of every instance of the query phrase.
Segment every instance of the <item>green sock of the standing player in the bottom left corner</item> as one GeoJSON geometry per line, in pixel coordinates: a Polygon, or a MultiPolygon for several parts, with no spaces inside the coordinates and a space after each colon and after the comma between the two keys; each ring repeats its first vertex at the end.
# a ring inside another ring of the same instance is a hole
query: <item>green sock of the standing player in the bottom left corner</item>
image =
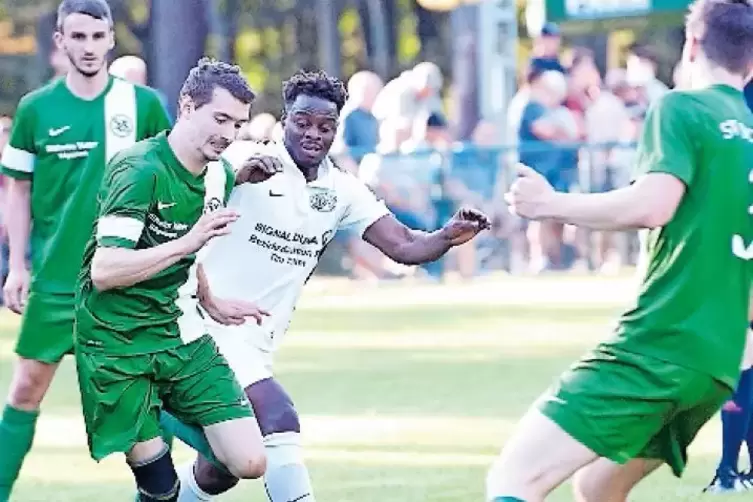
{"type": "Polygon", "coordinates": [[[23,411],[6,405],[0,420],[0,502],[7,502],[24,457],[31,449],[39,411],[23,411]]]}

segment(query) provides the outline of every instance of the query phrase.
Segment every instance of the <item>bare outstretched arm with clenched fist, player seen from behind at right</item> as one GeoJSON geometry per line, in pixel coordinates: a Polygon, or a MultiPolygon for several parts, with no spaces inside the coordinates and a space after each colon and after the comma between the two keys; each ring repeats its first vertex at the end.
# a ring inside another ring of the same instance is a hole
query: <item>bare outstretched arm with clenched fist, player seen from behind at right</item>
{"type": "Polygon", "coordinates": [[[532,220],[556,220],[594,230],[661,227],[669,222],[685,194],[685,184],[666,173],[649,173],[625,188],[606,193],[555,192],[546,179],[525,165],[505,200],[513,213],[532,220]]]}

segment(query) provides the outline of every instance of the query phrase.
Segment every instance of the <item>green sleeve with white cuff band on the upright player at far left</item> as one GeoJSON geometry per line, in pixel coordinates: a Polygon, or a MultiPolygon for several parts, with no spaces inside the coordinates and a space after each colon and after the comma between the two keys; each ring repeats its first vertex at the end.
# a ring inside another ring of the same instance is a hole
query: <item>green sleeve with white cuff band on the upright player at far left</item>
{"type": "Polygon", "coordinates": [[[3,174],[22,180],[32,178],[37,154],[34,144],[35,127],[34,109],[28,100],[22,99],[13,119],[10,139],[0,158],[3,174]]]}

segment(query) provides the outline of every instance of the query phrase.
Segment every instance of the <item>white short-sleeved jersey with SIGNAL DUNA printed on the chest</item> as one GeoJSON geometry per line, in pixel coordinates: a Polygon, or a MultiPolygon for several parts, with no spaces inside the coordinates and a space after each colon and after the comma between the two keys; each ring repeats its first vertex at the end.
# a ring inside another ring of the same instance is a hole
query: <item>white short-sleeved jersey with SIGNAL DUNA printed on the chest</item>
{"type": "MultiPolygon", "coordinates": [[[[347,228],[363,235],[389,212],[362,182],[329,159],[317,179],[307,183],[282,143],[236,141],[223,157],[238,168],[261,151],[280,159],[283,171],[233,190],[228,207],[241,216],[230,234],[202,251],[199,263],[213,294],[254,302],[270,313],[261,330],[275,350],[335,232],[347,228]]],[[[253,322],[243,329],[259,330],[253,322]]]]}

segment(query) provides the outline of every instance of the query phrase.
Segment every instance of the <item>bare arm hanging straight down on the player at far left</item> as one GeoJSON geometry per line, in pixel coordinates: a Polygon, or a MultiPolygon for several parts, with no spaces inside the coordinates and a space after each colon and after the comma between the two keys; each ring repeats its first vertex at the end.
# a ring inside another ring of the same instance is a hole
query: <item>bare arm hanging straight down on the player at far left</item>
{"type": "Polygon", "coordinates": [[[8,232],[10,259],[9,274],[3,289],[5,305],[13,312],[20,314],[26,305],[29,294],[29,270],[26,268],[26,254],[28,250],[31,230],[31,180],[20,180],[8,177],[7,213],[13,215],[7,218],[5,225],[8,232]]]}

